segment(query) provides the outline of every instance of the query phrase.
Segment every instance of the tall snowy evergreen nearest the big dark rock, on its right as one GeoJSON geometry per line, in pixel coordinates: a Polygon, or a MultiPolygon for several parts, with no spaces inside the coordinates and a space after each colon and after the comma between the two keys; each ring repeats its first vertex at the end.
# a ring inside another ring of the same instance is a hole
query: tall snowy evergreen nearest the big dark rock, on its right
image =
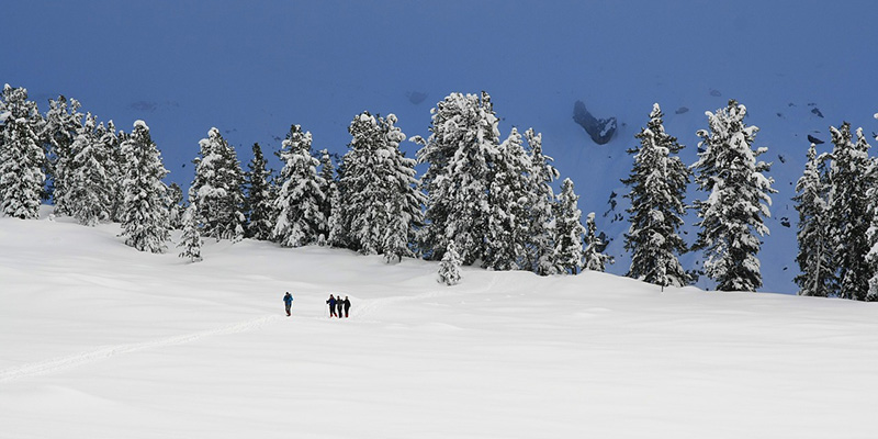
{"type": "Polygon", "coordinates": [[[665,133],[662,110],[654,104],[646,128],[634,137],[639,148],[629,149],[634,156],[631,175],[622,182],[630,188],[628,209],[631,227],[624,236],[624,248],[632,252],[628,275],[662,286],[683,286],[689,279],[678,255],[686,243],[678,235],[686,206],[686,185],[689,170],[680,161],[683,148],[675,137],[665,133]]]}

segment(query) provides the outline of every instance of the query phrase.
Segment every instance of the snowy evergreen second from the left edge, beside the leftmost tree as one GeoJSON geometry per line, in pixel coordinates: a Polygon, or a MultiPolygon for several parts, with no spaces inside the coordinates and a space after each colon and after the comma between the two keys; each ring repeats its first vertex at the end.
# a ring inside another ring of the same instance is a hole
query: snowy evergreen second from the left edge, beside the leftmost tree
{"type": "MultiPolygon", "coordinates": [[[[54,200],[56,215],[72,215],[76,205],[76,201],[68,195],[72,190],[68,180],[75,178],[79,171],[75,161],[78,153],[76,148],[83,146],[81,142],[76,143],[82,132],[82,114],[78,111],[79,106],[76,99],[68,101],[64,95],[57,100],[49,100],[49,110],[42,133],[48,158],[44,167],[49,182],[45,199],[54,200]]],[[[91,130],[94,130],[94,126],[91,130]]]]}

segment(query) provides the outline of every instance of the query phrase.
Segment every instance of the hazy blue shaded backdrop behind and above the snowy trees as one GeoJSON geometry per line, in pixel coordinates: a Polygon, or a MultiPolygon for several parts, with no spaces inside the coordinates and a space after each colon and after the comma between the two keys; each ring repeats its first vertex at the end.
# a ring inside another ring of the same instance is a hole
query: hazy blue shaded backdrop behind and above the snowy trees
{"type": "Polygon", "coordinates": [[[789,176],[774,169],[785,191],[775,210],[801,172],[804,133],[828,140],[842,120],[878,131],[868,0],[9,1],[2,16],[0,83],[26,87],[42,111],[64,93],[125,131],[146,121],[184,187],[212,126],[244,162],[254,142],[277,150],[293,123],[315,148],[344,153],[357,113],[393,112],[408,136],[427,135],[430,108],[453,91],[491,92],[504,136],[542,132],[586,212],[619,190],[630,168],[620,151],[653,102],[691,146],[706,110],[746,104],[757,143],[791,157],[789,176]],[[594,145],[572,122],[576,100],[619,117],[612,143],[594,145]]]}

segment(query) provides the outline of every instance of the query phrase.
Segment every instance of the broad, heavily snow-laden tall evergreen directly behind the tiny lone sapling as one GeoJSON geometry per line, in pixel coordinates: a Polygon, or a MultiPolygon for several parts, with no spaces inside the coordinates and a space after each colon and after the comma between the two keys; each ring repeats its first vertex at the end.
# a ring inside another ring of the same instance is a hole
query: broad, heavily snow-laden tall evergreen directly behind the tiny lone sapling
{"type": "Polygon", "coordinates": [[[418,160],[429,164],[421,177],[427,194],[421,248],[427,257],[441,259],[453,240],[463,263],[484,258],[497,124],[486,92],[481,98],[452,93],[432,110],[430,137],[418,151],[418,160]]]}

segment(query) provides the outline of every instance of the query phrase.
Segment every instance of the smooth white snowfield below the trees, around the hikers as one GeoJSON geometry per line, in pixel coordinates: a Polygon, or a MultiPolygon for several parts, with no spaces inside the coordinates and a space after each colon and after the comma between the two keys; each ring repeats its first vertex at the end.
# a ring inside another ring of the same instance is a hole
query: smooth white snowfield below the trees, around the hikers
{"type": "Polygon", "coordinates": [[[0,438],[876,436],[873,304],[116,233],[0,218],[0,438]]]}

